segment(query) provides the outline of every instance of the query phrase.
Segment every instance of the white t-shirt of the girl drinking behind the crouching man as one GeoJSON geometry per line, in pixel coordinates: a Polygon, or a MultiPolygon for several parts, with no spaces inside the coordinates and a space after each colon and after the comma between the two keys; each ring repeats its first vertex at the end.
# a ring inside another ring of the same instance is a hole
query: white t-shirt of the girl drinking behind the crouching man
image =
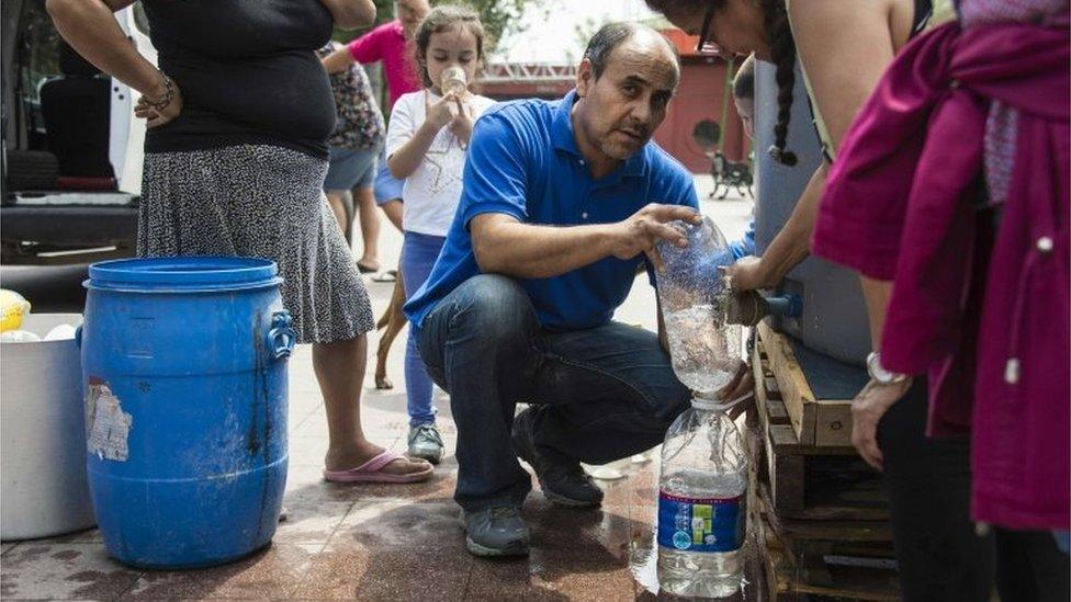
{"type": "MultiPolygon", "coordinates": [[[[427,118],[425,94],[431,103],[440,96],[433,92],[409,92],[398,98],[391,111],[391,125],[386,132],[386,156],[390,158],[413,139],[417,128],[427,118]]],[[[495,104],[493,99],[470,94],[465,104],[472,110],[473,120],[495,104]]],[[[436,135],[428,152],[416,171],[405,179],[402,189],[404,209],[403,226],[406,231],[431,236],[447,236],[453,214],[461,200],[461,179],[465,169],[465,150],[450,127],[436,135]]]]}

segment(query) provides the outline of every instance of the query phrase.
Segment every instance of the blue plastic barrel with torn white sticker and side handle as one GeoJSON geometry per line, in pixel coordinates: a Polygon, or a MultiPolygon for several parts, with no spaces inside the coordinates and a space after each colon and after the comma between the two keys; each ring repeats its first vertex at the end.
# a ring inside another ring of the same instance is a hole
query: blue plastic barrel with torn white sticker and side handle
{"type": "Polygon", "coordinates": [[[286,486],[286,357],[275,264],[105,261],[79,332],[90,493],[109,554],[192,568],[268,545],[286,486]]]}

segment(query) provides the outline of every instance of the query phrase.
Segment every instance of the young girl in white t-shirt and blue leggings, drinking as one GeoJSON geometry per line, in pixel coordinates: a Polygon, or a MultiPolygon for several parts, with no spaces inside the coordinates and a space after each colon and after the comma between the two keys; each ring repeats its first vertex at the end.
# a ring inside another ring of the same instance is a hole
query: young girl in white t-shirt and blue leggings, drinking
{"type": "MultiPolygon", "coordinates": [[[[484,59],[484,27],[474,11],[435,8],[417,31],[417,63],[425,89],[401,96],[391,114],[386,155],[391,174],[405,180],[402,280],[409,298],[428,280],[461,198],[461,177],[473,122],[495,101],[473,94],[484,59]]],[[[408,454],[438,464],[432,383],[413,334],[405,348],[408,454]]]]}

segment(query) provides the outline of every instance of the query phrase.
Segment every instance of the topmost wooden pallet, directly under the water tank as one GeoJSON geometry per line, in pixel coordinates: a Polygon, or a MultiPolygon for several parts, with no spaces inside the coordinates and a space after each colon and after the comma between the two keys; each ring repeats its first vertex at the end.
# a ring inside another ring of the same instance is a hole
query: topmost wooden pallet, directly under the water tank
{"type": "Polygon", "coordinates": [[[852,400],[816,399],[788,339],[765,321],[757,330],[796,439],[809,446],[852,445],[852,400]]]}

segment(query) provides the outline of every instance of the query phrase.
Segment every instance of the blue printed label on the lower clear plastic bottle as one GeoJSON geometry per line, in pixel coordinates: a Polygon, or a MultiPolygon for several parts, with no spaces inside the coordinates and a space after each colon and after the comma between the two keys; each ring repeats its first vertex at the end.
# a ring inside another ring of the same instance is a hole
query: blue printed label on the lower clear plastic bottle
{"type": "Polygon", "coordinates": [[[733,552],[744,545],[745,501],[658,492],[658,545],[683,552],[733,552]]]}

